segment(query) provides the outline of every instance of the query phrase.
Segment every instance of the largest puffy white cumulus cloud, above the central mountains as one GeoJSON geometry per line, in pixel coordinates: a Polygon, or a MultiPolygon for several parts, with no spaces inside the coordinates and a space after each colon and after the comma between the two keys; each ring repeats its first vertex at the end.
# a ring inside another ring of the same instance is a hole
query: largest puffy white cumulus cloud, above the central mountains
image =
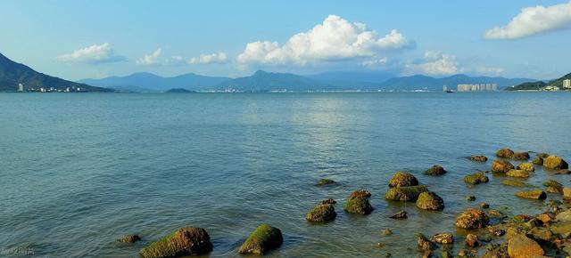
{"type": "Polygon", "coordinates": [[[383,37],[363,23],[349,22],[329,15],[307,32],[291,36],[285,44],[256,41],[246,44],[237,61],[241,64],[296,64],[313,61],[351,60],[374,57],[382,51],[414,47],[396,29],[383,37]]]}

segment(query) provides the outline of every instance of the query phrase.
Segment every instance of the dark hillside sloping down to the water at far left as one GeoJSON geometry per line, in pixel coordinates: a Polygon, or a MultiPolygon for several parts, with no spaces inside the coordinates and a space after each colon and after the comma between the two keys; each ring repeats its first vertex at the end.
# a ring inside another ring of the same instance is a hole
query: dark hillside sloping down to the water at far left
{"type": "Polygon", "coordinates": [[[38,73],[34,69],[12,61],[0,53],[0,92],[17,91],[19,84],[24,85],[25,89],[54,87],[54,89],[63,91],[68,87],[79,87],[82,91],[88,92],[112,92],[110,89],[70,82],[38,73]]]}

